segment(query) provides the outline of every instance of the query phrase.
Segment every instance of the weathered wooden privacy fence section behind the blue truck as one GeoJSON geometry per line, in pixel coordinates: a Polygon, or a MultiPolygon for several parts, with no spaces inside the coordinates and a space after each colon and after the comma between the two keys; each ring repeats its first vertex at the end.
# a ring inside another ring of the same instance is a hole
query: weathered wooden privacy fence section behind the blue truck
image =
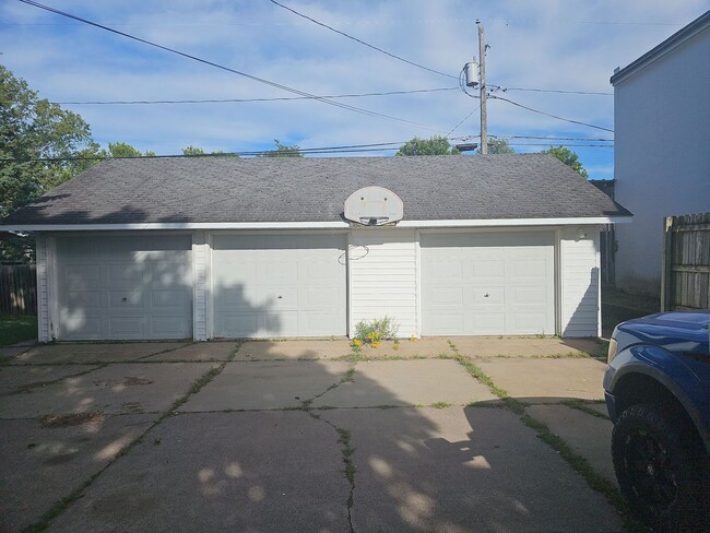
{"type": "Polygon", "coordinates": [[[710,213],[666,216],[661,308],[710,308],[710,213]]]}

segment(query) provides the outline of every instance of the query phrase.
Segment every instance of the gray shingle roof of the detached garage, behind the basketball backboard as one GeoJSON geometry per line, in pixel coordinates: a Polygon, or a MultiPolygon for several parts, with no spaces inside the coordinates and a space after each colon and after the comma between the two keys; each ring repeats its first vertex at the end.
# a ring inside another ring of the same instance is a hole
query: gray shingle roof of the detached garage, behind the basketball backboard
{"type": "Polygon", "coordinates": [[[2,224],[341,221],[371,185],[400,196],[406,221],[629,215],[544,154],[174,157],[105,161],[2,224]]]}

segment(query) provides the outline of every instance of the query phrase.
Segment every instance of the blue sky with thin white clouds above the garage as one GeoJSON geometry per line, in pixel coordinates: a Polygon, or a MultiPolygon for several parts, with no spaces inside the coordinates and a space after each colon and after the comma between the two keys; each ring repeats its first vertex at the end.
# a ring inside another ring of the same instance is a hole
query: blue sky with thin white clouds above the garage
{"type": "MultiPolygon", "coordinates": [[[[42,3],[312,95],[441,91],[334,99],[389,118],[308,99],[62,107],[79,112],[103,145],[121,141],[164,155],[179,154],[190,144],[206,151],[268,150],[274,139],[301,147],[401,143],[433,134],[477,142],[478,100],[463,94],[457,79],[463,64],[478,56],[478,19],[490,46],[488,85],[507,88],[494,90],[494,96],[613,130],[608,79],[614,68],[634,61],[710,8],[705,0],[279,1],[440,73],[347,39],[270,0],[42,3]]],[[[51,102],[294,96],[17,0],[0,3],[0,51],[2,64],[51,102]]],[[[570,149],[592,178],[613,177],[612,143],[592,141],[613,139],[612,132],[490,99],[488,134],[510,139],[517,152],[578,144],[570,149]],[[536,137],[545,139],[530,139],[536,137]]]]}

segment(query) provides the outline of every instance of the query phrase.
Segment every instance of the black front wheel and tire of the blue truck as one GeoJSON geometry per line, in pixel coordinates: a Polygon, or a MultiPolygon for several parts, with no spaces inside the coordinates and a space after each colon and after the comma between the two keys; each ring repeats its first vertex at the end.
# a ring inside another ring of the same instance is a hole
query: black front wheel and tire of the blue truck
{"type": "Polygon", "coordinates": [[[708,531],[706,452],[673,410],[636,404],[612,435],[614,470],[637,518],[654,531],[708,531]]]}

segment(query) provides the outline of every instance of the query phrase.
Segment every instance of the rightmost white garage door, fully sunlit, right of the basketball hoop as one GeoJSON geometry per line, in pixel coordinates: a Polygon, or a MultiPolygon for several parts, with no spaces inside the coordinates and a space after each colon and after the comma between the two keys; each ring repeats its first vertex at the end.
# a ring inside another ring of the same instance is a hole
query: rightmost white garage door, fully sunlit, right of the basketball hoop
{"type": "Polygon", "coordinates": [[[552,232],[422,235],[422,333],[555,333],[552,232]]]}

